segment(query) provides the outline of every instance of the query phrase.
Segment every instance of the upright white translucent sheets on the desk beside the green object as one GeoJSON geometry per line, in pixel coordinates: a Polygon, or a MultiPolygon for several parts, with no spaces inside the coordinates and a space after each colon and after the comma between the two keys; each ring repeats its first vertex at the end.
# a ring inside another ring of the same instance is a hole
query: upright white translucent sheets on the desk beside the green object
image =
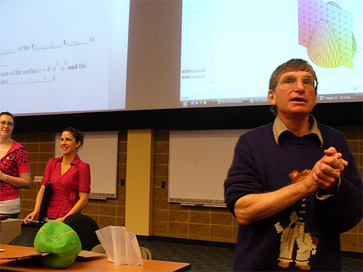
{"type": "Polygon", "coordinates": [[[124,226],[106,226],[96,234],[111,262],[144,265],[135,233],[129,233],[124,226]]]}

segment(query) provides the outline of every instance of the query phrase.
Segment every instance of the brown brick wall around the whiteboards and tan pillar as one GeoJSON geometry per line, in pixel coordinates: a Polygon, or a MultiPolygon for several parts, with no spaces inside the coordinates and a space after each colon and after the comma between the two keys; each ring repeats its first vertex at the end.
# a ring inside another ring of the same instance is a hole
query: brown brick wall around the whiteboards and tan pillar
{"type": "MultiPolygon", "coordinates": [[[[346,135],[362,175],[362,126],[344,126],[337,129],[346,135]]],[[[28,150],[32,179],[35,175],[43,175],[48,159],[54,157],[55,133],[15,133],[13,138],[24,144],[28,150]]],[[[236,220],[226,208],[181,206],[167,202],[169,130],[156,130],[154,139],[152,235],[236,242],[236,220]],[[165,188],[162,188],[162,182],[165,182],[165,188]]],[[[84,208],[84,214],[93,217],[101,228],[109,225],[124,226],[125,186],[121,185],[121,181],[126,179],[126,155],[127,131],[122,130],[119,134],[118,148],[118,197],[109,200],[90,200],[88,206],[84,208]]],[[[39,183],[34,182],[30,189],[21,189],[20,217],[32,211],[38,190],[39,183]]],[[[362,222],[350,231],[342,233],[341,237],[344,251],[363,252],[362,222]]]]}

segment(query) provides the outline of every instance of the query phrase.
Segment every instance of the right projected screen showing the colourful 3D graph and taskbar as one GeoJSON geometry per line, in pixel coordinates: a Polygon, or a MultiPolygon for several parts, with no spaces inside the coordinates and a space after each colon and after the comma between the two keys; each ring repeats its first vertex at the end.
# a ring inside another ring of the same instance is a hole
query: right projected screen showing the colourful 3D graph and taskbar
{"type": "Polygon", "coordinates": [[[363,1],[183,1],[180,104],[268,104],[274,68],[306,59],[318,102],[362,101],[363,1]]]}

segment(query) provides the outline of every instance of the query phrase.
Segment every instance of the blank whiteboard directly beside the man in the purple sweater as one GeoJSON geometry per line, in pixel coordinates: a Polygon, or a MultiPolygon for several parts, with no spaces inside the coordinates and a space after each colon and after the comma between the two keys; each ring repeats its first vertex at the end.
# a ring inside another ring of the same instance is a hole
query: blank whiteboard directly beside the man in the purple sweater
{"type": "Polygon", "coordinates": [[[234,146],[248,130],[179,130],[169,135],[169,202],[225,206],[234,146]]]}

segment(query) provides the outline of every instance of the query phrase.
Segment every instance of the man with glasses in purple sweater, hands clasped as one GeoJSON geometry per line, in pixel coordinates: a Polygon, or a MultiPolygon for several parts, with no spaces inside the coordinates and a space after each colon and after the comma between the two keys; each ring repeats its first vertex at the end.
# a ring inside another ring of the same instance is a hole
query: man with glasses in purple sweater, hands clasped
{"type": "Polygon", "coordinates": [[[362,219],[362,179],[346,139],[318,124],[315,71],[290,59],[270,78],[273,123],[241,135],[225,179],[239,222],[234,271],[340,271],[339,233],[362,219]]]}

